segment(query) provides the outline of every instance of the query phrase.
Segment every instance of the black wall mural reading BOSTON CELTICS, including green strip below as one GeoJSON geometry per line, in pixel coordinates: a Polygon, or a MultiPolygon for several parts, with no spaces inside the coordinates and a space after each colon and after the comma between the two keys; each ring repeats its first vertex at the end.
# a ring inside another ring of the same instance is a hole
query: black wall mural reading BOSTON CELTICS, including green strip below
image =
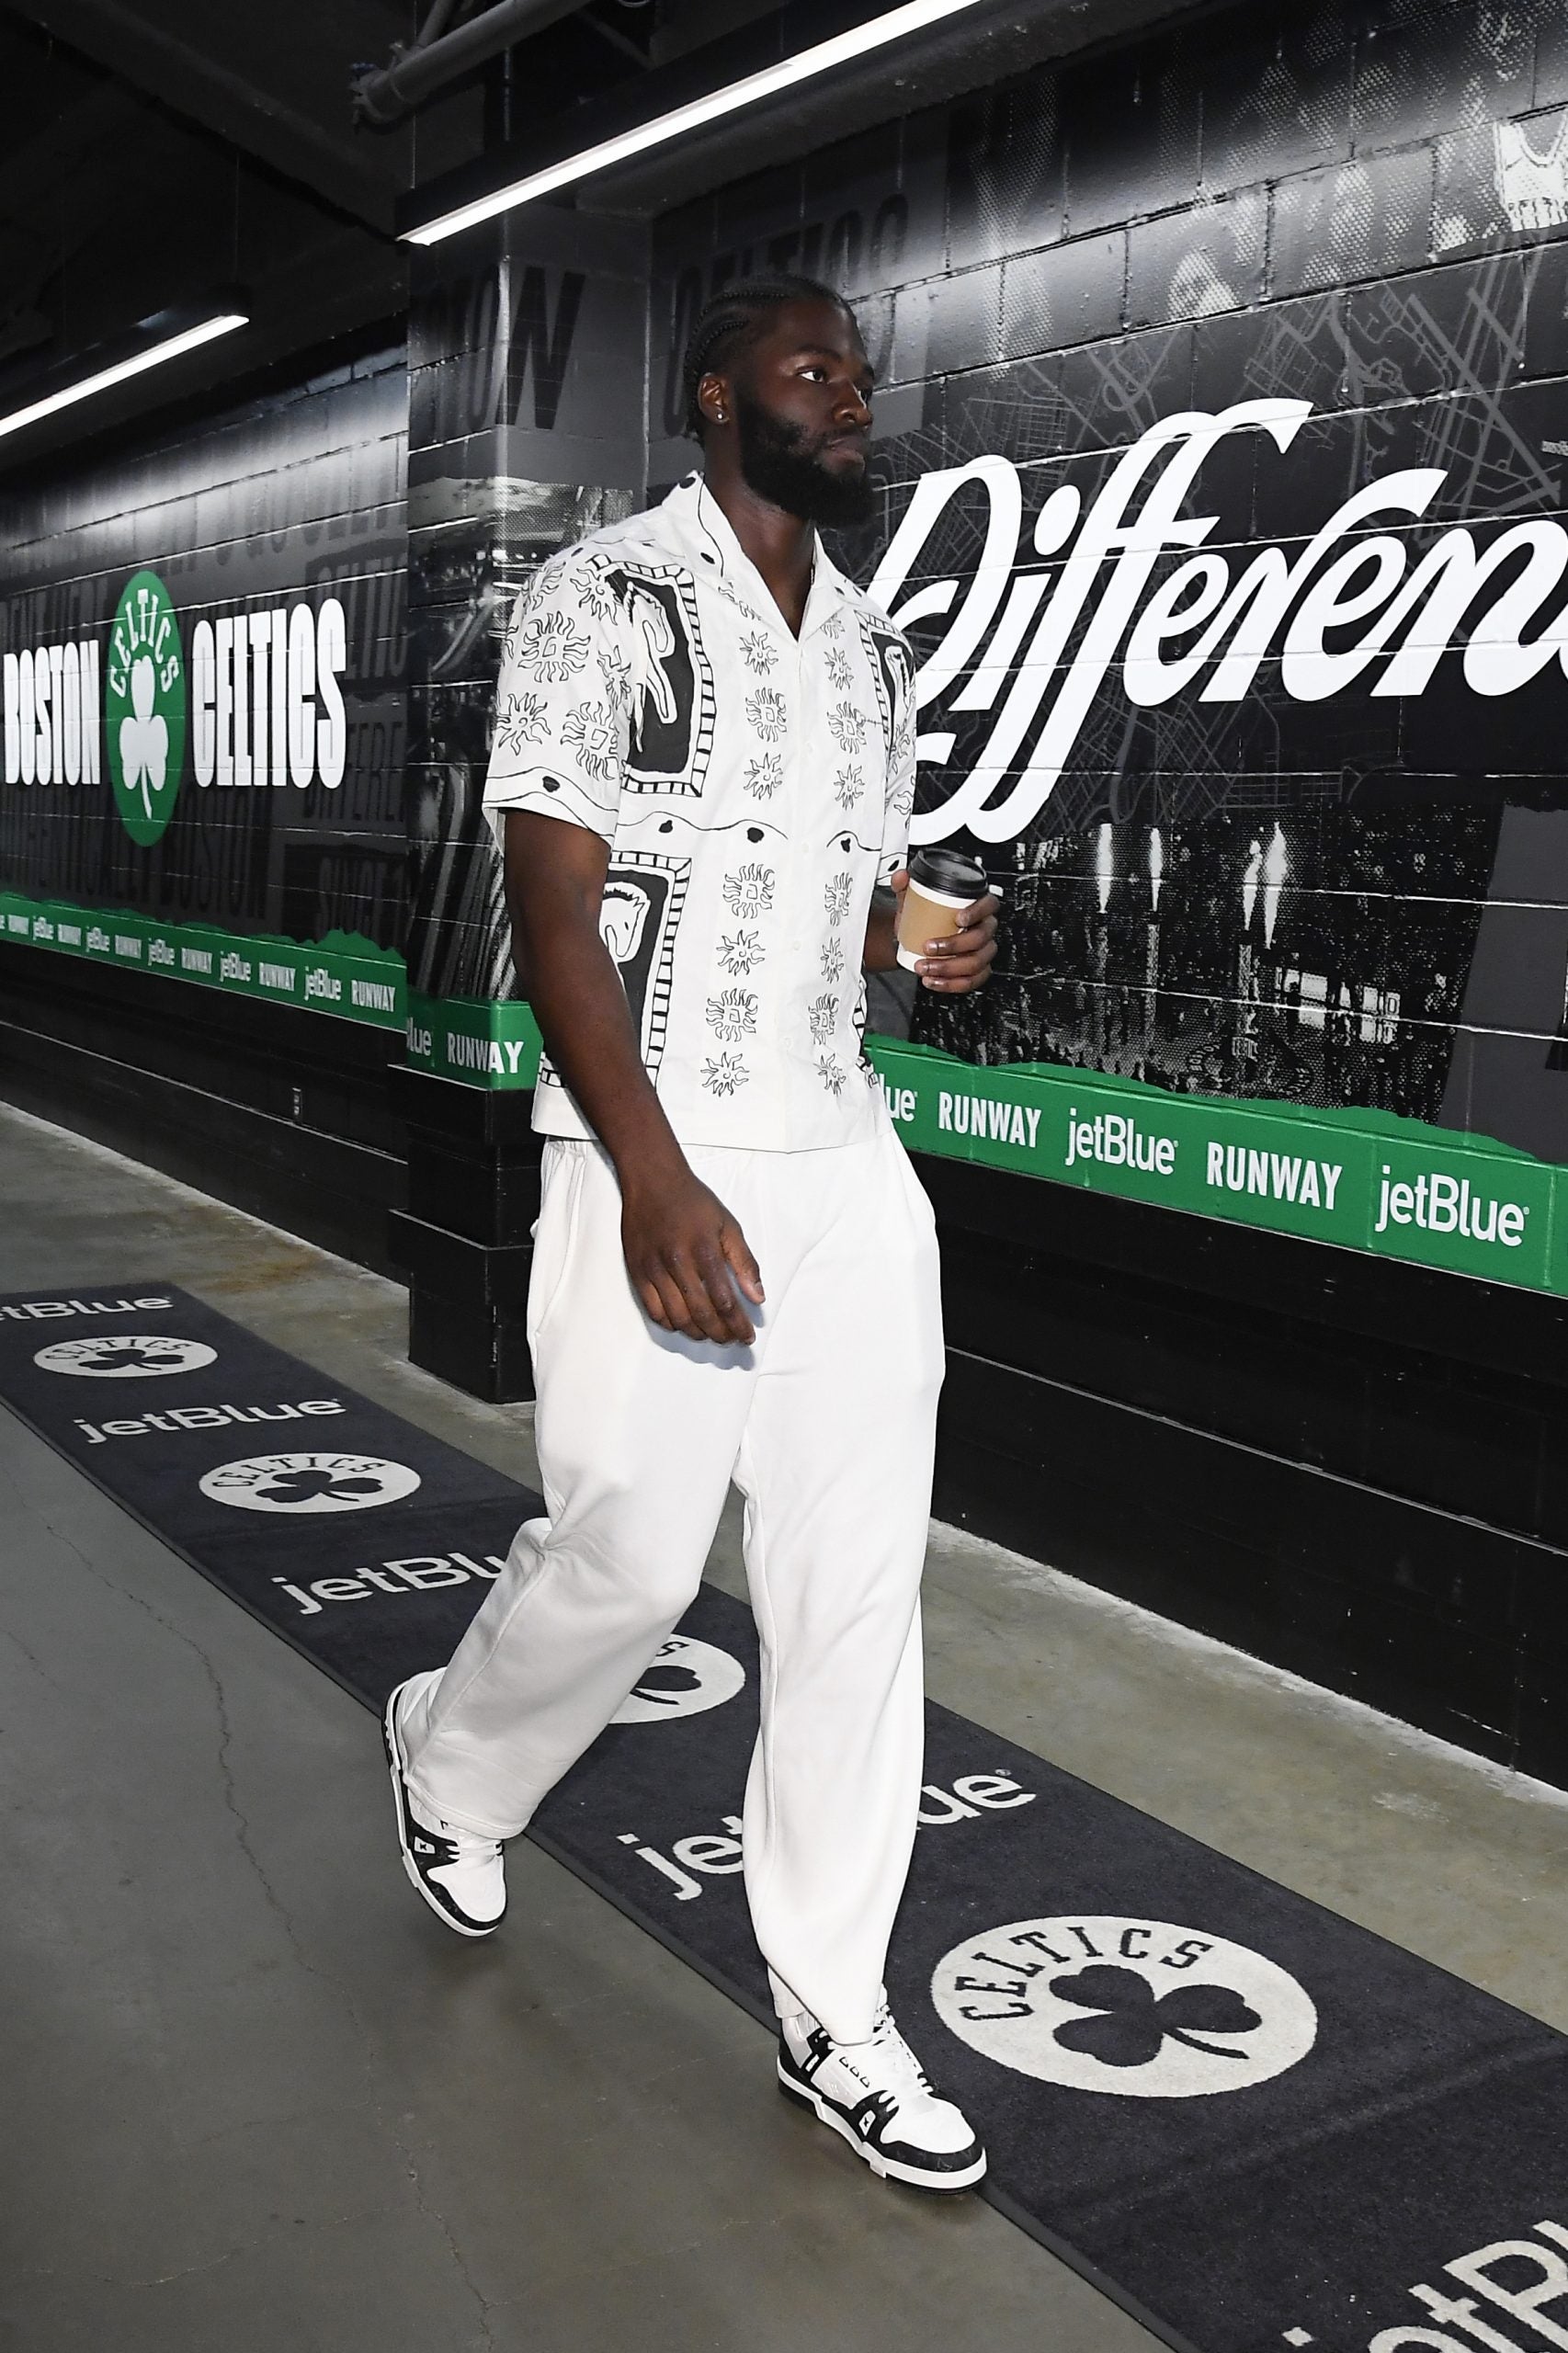
{"type": "Polygon", "coordinates": [[[7,939],[403,1024],[403,402],[393,351],[16,501],[7,939]]]}

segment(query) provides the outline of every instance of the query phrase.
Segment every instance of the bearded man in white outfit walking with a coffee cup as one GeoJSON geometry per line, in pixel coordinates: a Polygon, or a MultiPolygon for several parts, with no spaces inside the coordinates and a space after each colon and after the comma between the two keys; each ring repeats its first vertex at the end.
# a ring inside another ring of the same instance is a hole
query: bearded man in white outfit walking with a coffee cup
{"type": "MultiPolygon", "coordinates": [[[[746,280],[697,322],[687,400],[704,478],[546,565],[506,640],[485,802],[546,1045],[527,1325],[549,1518],[450,1666],[388,1701],[398,1826],[431,1908],[490,1934],[501,1842],[690,1607],[735,1480],[779,2082],[878,2174],[968,2188],[984,2151],[883,1993],[942,1315],[932,1214],[859,1042],[862,972],[895,962],[913,666],[815,529],[869,515],[871,369],[826,287],[746,280]]],[[[994,932],[979,899],[923,984],[975,988],[994,932]]]]}

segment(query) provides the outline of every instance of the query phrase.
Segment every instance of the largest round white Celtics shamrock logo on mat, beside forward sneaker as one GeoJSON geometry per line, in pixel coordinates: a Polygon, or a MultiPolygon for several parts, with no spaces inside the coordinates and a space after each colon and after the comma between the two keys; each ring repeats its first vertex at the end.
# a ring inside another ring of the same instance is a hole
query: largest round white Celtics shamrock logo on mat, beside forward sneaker
{"type": "Polygon", "coordinates": [[[986,2059],[1123,2099],[1245,2092],[1318,2035],[1309,1995],[1278,1962],[1168,1920],[1012,1920],[954,1946],[930,1991],[986,2059]]]}

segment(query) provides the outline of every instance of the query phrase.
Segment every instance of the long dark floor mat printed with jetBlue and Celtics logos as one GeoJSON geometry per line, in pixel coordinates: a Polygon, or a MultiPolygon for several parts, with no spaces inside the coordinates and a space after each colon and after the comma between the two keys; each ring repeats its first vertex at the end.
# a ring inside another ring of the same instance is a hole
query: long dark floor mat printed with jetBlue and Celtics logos
{"type": "MultiPolygon", "coordinates": [[[[0,1299],[0,1398],[372,1708],[539,1511],[172,1285],[0,1299]]],[[[768,2017],[756,1682],[704,1588],[530,1835],[768,2017]]],[[[1568,2346],[1568,2040],[937,1706],[890,1993],[994,2205],[1168,2344],[1568,2346]]]]}

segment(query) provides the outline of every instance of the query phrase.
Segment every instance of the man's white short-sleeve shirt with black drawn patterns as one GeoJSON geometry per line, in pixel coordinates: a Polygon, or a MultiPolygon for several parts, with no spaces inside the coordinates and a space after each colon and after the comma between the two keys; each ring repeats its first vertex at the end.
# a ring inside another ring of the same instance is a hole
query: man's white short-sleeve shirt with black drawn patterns
{"type": "MultiPolygon", "coordinates": [[[[485,807],[610,845],[600,934],[683,1144],[876,1132],[862,951],[911,805],[906,638],[822,546],[791,635],[702,480],[518,598],[485,807]]],[[[534,1127],[591,1134],[549,1059],[534,1127]]]]}

